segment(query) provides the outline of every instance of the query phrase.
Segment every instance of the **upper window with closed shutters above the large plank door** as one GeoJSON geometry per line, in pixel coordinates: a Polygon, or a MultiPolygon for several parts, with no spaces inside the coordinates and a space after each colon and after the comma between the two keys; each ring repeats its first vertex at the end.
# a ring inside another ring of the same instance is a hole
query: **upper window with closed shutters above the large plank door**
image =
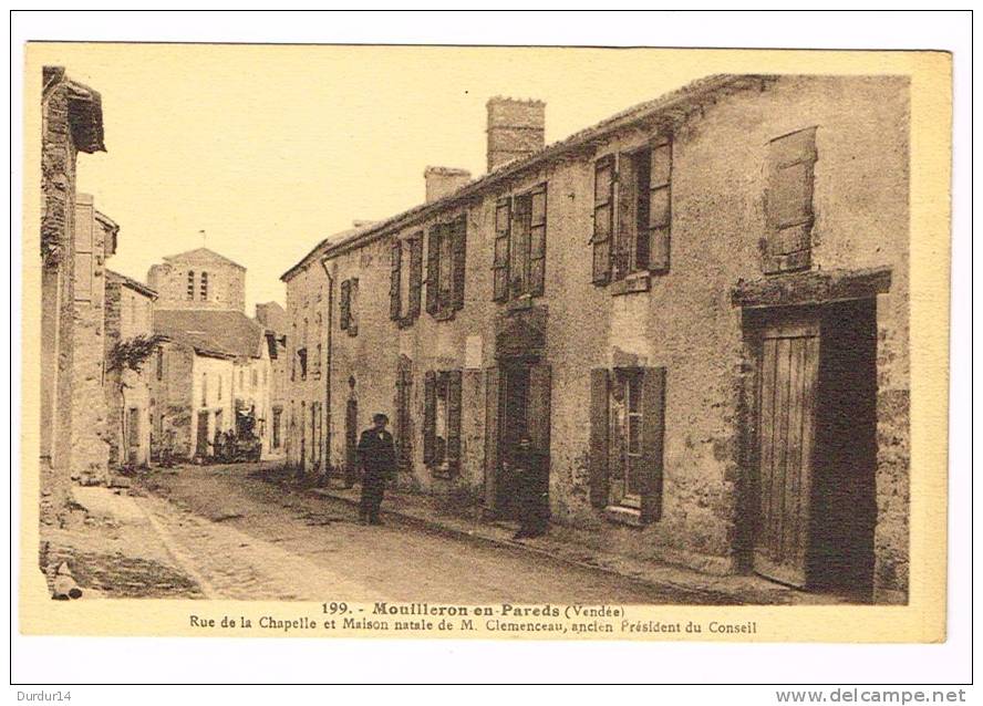
{"type": "Polygon", "coordinates": [[[783,135],[768,143],[762,252],[765,273],[810,267],[814,166],[817,158],[815,127],[783,135]]]}

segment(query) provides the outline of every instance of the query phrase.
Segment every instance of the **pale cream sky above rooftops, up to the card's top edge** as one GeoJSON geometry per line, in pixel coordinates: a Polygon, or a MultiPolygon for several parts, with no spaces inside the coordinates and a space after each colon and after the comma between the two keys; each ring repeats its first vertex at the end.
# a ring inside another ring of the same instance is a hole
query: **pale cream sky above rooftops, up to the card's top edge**
{"type": "Polygon", "coordinates": [[[146,281],[205,245],[247,268],[247,313],[282,303],[280,276],[325,236],[420,204],[427,165],[484,174],[489,97],[545,101],[549,144],[725,65],[648,49],[29,44],[39,83],[42,64],[102,94],[107,152],[80,155],[77,190],[121,227],[108,267],[146,281]]]}

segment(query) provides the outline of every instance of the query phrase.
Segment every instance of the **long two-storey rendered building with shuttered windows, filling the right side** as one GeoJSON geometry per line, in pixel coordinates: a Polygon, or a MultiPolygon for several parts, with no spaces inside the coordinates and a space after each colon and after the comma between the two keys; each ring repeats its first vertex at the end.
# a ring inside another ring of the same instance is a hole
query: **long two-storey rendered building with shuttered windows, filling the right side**
{"type": "Polygon", "coordinates": [[[907,80],[712,76],[550,146],[544,115],[493,98],[487,175],[284,274],[291,457],[344,467],[383,411],[403,487],[508,518],[526,436],[558,534],[907,601],[907,80]]]}

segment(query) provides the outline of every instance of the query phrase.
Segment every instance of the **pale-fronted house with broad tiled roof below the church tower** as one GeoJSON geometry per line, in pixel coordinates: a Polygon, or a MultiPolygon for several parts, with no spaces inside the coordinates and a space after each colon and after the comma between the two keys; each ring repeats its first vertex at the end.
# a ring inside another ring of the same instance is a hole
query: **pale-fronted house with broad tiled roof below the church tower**
{"type": "Polygon", "coordinates": [[[271,335],[239,311],[154,312],[154,333],[164,339],[155,363],[155,455],[213,455],[215,432],[256,434],[271,453],[271,335]]]}

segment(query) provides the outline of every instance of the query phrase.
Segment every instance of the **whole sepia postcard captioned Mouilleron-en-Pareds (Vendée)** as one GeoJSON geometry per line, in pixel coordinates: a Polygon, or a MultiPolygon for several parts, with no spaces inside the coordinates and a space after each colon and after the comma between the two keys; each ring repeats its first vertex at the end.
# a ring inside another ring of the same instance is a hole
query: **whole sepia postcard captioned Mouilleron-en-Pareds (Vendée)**
{"type": "Polygon", "coordinates": [[[945,638],[949,54],[25,52],[22,632],[945,638]]]}

